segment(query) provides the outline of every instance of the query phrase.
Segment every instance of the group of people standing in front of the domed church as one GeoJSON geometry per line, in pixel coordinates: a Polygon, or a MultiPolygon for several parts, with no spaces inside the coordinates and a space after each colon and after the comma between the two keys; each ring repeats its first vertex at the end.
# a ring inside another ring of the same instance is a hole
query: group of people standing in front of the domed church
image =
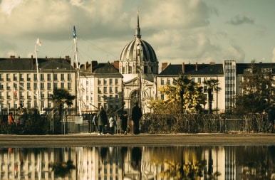
{"type": "MultiPolygon", "coordinates": [[[[131,134],[139,134],[139,123],[140,118],[142,117],[142,112],[140,107],[138,106],[138,103],[135,103],[135,106],[132,109],[132,116],[131,116],[131,134]]],[[[106,111],[104,110],[103,106],[100,106],[100,110],[98,111],[98,114],[93,116],[93,126],[95,129],[98,130],[98,135],[104,135],[105,134],[105,125],[109,124],[110,127],[110,134],[114,134],[115,132],[115,118],[107,116],[106,111]]],[[[128,133],[128,115],[127,112],[124,110],[122,114],[120,115],[120,125],[121,125],[121,132],[124,134],[128,133]]],[[[94,129],[94,130],[95,130],[94,129]]]]}

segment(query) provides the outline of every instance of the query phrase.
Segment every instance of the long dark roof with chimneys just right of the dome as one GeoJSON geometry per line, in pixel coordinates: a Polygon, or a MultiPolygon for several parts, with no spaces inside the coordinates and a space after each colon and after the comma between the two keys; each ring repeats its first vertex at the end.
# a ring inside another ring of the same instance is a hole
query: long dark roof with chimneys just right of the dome
{"type": "Polygon", "coordinates": [[[167,65],[166,68],[157,76],[175,76],[180,74],[186,75],[223,75],[224,69],[222,64],[176,64],[167,65]],[[197,67],[197,68],[196,68],[197,67]]]}

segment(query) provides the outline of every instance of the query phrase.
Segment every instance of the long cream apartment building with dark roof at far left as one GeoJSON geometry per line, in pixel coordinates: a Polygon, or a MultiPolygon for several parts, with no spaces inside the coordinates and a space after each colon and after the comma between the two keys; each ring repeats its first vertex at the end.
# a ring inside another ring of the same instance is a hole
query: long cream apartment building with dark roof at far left
{"type": "MultiPolygon", "coordinates": [[[[0,58],[2,110],[16,110],[19,104],[22,104],[28,109],[40,106],[41,110],[51,112],[55,105],[48,97],[51,97],[54,88],[65,88],[71,95],[76,95],[76,70],[71,66],[70,57],[38,58],[37,62],[38,64],[33,56],[0,58]]],[[[74,108],[72,106],[72,109],[74,108]]]]}

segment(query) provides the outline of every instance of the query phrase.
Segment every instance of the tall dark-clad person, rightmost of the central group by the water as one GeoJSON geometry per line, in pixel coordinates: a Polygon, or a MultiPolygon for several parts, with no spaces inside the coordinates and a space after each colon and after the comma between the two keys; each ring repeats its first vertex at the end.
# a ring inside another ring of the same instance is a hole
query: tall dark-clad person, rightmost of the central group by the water
{"type": "Polygon", "coordinates": [[[140,107],[138,107],[138,103],[135,102],[135,106],[132,109],[132,121],[131,121],[131,133],[139,134],[140,133],[140,118],[142,117],[142,112],[140,107]]]}

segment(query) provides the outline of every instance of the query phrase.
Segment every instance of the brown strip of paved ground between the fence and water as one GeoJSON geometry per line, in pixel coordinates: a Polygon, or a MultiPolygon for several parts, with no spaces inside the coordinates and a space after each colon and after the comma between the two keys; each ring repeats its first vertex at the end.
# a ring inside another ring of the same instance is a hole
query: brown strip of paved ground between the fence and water
{"type": "Polygon", "coordinates": [[[66,134],[0,135],[0,147],[100,147],[100,146],[255,146],[275,145],[275,134],[66,134]]]}

